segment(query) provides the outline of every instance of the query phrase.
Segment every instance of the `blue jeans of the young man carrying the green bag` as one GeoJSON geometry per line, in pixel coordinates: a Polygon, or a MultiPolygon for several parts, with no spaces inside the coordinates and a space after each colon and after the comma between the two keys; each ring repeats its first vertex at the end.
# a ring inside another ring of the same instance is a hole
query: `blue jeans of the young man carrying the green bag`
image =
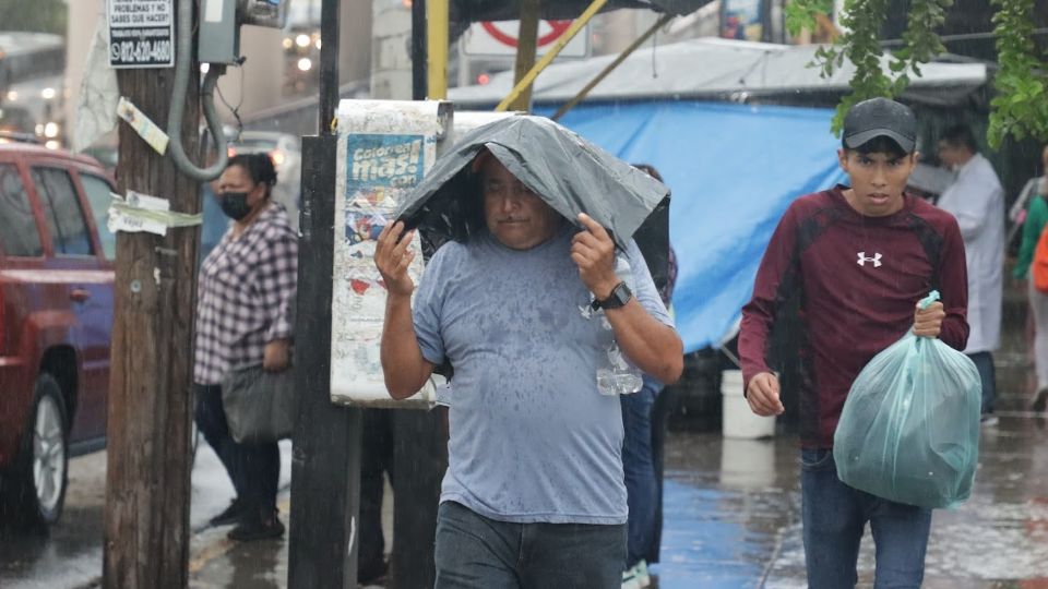
{"type": "Polygon", "coordinates": [[[808,587],[855,587],[859,542],[869,521],[877,545],[873,587],[919,588],[931,509],[876,497],[844,484],[837,479],[831,449],[802,449],[800,468],[808,587]]]}

